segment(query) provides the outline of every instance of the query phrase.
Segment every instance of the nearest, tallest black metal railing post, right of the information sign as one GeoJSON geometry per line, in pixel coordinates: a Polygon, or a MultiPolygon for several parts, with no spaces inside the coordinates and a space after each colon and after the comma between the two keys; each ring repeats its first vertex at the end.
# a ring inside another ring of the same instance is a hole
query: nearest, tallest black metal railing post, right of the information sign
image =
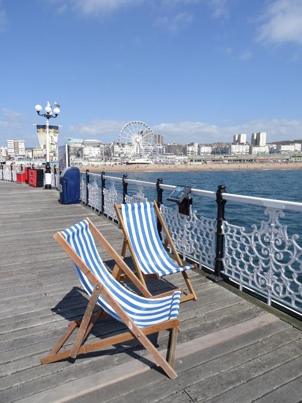
{"type": "Polygon", "coordinates": [[[222,259],[223,259],[223,240],[224,235],[222,234],[222,221],[224,221],[224,205],[226,200],[223,200],[222,193],[225,193],[225,186],[219,185],[216,191],[216,203],[217,203],[217,225],[216,225],[216,257],[215,257],[215,268],[214,274],[210,274],[208,278],[215,283],[223,281],[221,277],[222,270],[222,259]]]}

